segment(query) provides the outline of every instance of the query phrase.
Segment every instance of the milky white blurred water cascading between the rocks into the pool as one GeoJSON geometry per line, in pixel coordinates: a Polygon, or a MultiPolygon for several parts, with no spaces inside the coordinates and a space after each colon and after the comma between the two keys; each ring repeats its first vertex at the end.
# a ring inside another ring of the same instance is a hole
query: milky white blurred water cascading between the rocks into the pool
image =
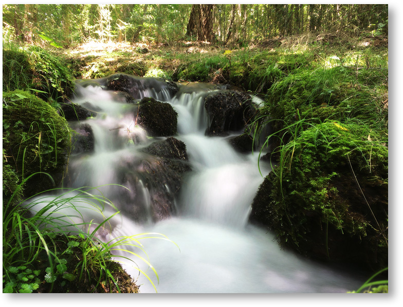
{"type": "MultiPolygon", "coordinates": [[[[132,172],[136,178],[138,161],[153,161],[140,150],[152,141],[135,125],[136,105],[123,102],[113,91],[102,89],[100,83],[78,85],[74,102],[97,113],[81,122],[93,129],[95,149],[70,158],[70,186],[102,186],[101,193],[116,201],[119,210],[130,212],[127,207],[133,203],[142,208],[138,211],[141,220],[132,218],[138,212],[111,219],[112,232],[100,232],[100,240],[151,232],[166,235],[177,244],[158,239],[142,241],[159,283],[147,264],[140,261],[135,267],[123,263],[129,274],[138,277],[136,283],[142,293],[155,290],[138,269],[148,274],[159,293],[328,293],[356,289],[360,281],[280,250],[272,234],[247,223],[250,204],[263,182],[258,155],[235,152],[224,137],[204,136],[208,125],[204,98],[218,90],[212,85],[190,84],[181,86],[174,97],[163,88],[138,91],[138,99],[153,97],[171,103],[177,111],[176,138],[186,144],[192,167],[180,197],[175,199],[176,216],[152,222],[150,187],[141,177],[129,180],[124,176],[132,172]],[[140,142],[133,142],[134,137],[140,142]],[[130,191],[109,185],[116,183],[130,191]]],[[[268,166],[261,168],[262,174],[268,173],[268,166]]],[[[164,188],[170,193],[168,185],[164,188]]],[[[34,209],[43,207],[46,200],[39,201],[34,209]]],[[[69,208],[63,210],[61,214],[67,214],[69,208]]],[[[105,210],[105,215],[113,213],[105,210]]],[[[96,213],[84,209],[82,215],[89,222],[96,213]]]]}

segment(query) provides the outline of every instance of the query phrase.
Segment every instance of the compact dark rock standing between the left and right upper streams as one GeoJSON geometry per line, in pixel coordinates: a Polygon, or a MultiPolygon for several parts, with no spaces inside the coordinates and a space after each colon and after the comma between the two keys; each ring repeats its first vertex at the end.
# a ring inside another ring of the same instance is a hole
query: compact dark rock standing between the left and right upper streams
{"type": "Polygon", "coordinates": [[[177,132],[178,114],[169,103],[143,98],[139,103],[137,123],[150,137],[168,137],[177,132]]]}

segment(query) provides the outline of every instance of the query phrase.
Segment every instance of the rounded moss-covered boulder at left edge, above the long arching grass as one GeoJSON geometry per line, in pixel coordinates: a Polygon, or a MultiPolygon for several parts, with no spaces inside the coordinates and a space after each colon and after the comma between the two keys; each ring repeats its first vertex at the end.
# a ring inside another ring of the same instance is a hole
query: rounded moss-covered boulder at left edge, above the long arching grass
{"type": "Polygon", "coordinates": [[[56,109],[29,92],[3,92],[3,147],[20,182],[36,172],[25,196],[58,185],[71,148],[70,128],[56,109]]]}

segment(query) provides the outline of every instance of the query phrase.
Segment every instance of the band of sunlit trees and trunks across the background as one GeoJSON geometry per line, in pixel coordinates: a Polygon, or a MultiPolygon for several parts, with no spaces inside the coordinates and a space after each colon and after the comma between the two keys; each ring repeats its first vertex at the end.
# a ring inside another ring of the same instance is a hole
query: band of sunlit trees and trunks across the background
{"type": "Polygon", "coordinates": [[[307,31],[387,32],[387,4],[4,4],[3,38],[71,46],[88,40],[259,43],[307,31]]]}

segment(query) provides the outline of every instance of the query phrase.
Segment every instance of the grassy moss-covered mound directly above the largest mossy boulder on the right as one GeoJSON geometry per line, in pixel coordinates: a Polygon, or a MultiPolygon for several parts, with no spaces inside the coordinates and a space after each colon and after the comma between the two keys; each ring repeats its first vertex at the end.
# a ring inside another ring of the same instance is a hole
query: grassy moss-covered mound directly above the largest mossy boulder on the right
{"type": "MultiPolygon", "coordinates": [[[[378,78],[377,82],[382,79],[378,78]]],[[[262,111],[267,111],[274,119],[274,130],[300,119],[315,124],[326,119],[344,122],[355,118],[368,124],[382,118],[386,121],[387,110],[375,116],[374,110],[381,106],[372,97],[373,91],[373,88],[359,86],[353,71],[340,67],[295,71],[268,89],[268,103],[262,111]]]]}

